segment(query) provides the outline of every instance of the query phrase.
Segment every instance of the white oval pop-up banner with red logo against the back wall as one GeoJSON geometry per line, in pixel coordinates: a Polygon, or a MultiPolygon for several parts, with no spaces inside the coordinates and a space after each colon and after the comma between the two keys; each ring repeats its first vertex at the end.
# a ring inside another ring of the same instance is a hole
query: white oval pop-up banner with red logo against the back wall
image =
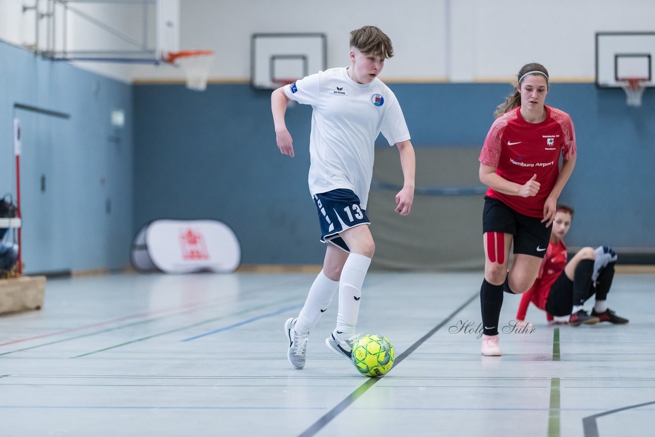
{"type": "Polygon", "coordinates": [[[151,221],[132,243],[132,265],[164,273],[231,273],[241,262],[234,231],[218,220],[151,221]]]}

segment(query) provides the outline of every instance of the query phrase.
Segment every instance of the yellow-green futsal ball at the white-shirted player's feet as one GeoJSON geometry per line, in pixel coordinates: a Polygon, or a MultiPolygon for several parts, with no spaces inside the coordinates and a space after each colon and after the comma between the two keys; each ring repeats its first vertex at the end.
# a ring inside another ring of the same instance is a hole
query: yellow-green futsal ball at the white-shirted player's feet
{"type": "Polygon", "coordinates": [[[383,335],[359,337],[352,346],[352,364],[362,375],[382,376],[394,365],[394,346],[383,335]]]}

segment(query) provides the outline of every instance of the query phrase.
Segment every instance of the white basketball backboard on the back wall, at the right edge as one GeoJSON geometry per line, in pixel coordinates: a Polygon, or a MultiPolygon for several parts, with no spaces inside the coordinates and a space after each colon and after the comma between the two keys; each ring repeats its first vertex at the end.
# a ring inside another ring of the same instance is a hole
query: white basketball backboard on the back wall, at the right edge
{"type": "Polygon", "coordinates": [[[623,88],[629,79],[655,86],[655,32],[597,32],[596,86],[623,88]]]}

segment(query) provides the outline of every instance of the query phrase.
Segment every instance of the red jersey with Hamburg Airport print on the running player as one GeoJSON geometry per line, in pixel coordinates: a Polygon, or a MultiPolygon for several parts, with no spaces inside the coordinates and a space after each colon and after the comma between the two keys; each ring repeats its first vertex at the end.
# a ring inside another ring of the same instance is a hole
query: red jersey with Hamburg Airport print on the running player
{"type": "Polygon", "coordinates": [[[575,130],[569,114],[546,106],[546,119],[528,123],[521,117],[521,107],[498,117],[491,125],[482,146],[479,161],[496,168],[496,174],[523,185],[536,174],[541,186],[534,197],[520,197],[487,190],[521,214],[544,216],[544,203],[559,175],[559,154],[569,159],[576,153],[575,130]]]}

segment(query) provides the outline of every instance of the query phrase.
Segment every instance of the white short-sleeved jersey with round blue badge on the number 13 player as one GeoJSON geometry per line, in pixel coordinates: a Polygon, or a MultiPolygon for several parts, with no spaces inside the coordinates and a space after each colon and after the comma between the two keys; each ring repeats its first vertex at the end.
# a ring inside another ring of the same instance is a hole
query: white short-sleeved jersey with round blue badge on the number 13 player
{"type": "Polygon", "coordinates": [[[389,145],[410,138],[394,93],[377,78],[368,84],[356,83],[343,67],[295,81],[284,86],[284,92],[291,100],[313,108],[309,138],[312,196],[352,189],[366,209],[375,139],[380,132],[389,145]]]}

